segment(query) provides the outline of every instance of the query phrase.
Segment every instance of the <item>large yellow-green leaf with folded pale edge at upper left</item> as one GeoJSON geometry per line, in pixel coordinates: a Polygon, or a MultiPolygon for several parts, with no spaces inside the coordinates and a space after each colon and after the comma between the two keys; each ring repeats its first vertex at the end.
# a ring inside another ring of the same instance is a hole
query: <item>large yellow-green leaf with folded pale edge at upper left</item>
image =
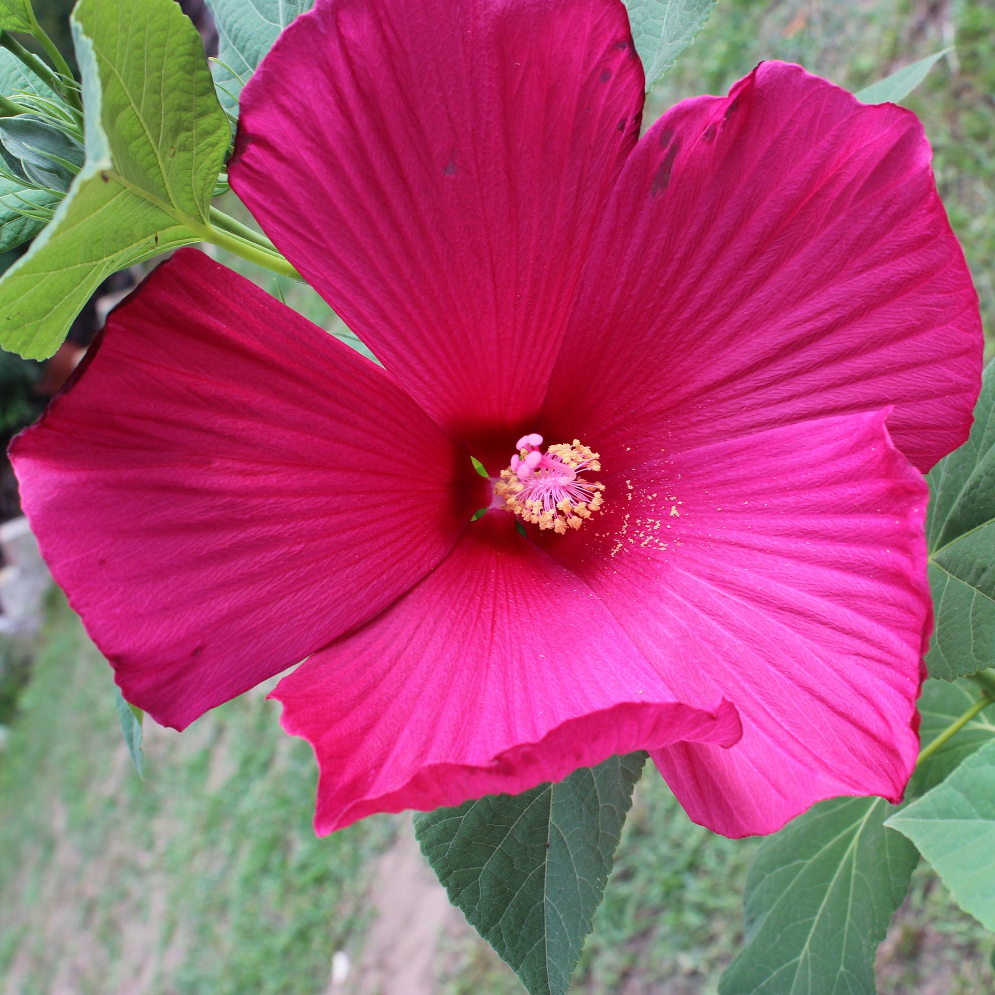
{"type": "Polygon", "coordinates": [[[81,0],[73,15],[86,162],[0,279],[0,345],[52,355],[100,282],[199,241],[230,129],[174,0],[81,0]]]}

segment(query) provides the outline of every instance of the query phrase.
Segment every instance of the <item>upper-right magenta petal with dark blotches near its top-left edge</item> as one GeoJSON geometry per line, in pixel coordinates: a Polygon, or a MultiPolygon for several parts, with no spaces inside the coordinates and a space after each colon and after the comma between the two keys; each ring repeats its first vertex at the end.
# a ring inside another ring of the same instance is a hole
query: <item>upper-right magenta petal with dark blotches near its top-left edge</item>
{"type": "Polygon", "coordinates": [[[797,66],[678,104],[606,211],[548,434],[610,466],[894,404],[896,445],[928,470],[967,437],[982,352],[929,158],[914,114],[797,66]]]}

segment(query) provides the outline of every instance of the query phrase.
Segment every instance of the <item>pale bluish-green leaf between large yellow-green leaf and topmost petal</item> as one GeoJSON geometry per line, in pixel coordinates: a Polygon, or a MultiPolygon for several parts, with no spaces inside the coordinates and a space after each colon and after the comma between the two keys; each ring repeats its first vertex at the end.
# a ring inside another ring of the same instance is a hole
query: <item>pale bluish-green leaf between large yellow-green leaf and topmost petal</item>
{"type": "Polygon", "coordinates": [[[218,98],[232,116],[239,112],[242,88],[280,33],[313,4],[314,0],[207,0],[218,29],[214,80],[218,98]]]}

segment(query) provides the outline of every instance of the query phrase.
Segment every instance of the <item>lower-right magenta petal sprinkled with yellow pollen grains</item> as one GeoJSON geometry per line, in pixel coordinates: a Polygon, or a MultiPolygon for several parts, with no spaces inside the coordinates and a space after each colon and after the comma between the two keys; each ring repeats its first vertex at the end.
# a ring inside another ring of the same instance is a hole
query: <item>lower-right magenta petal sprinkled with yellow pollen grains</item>
{"type": "Polygon", "coordinates": [[[608,478],[600,534],[548,544],[677,697],[738,709],[731,749],[653,754],[716,832],[772,833],[836,795],[897,801],[915,763],[927,489],[886,415],[772,429],[608,478]]]}

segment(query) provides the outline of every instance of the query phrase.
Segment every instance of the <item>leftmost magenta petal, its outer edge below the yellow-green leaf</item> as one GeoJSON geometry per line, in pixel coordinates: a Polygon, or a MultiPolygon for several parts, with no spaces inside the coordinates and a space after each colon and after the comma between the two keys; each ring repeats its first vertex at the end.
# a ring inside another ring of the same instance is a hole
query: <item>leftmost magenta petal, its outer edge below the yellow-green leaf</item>
{"type": "Polygon", "coordinates": [[[202,253],[95,351],[12,456],[56,579],[164,724],[379,611],[469,520],[469,459],[390,378],[202,253]]]}

